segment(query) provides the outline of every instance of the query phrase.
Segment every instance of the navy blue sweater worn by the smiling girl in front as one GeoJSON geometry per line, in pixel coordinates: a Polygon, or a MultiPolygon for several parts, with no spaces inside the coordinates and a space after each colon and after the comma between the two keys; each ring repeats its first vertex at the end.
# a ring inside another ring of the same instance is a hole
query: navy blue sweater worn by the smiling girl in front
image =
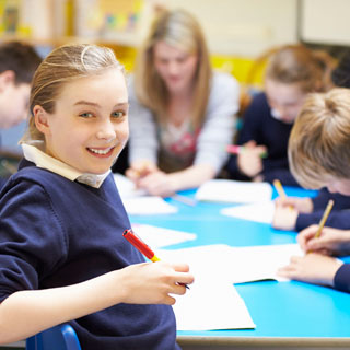
{"type": "MultiPolygon", "coordinates": [[[[144,261],[122,238],[130,223],[112,174],[96,189],[33,165],[0,196],[0,302],[144,261]]],[[[179,349],[167,305],[117,304],[71,325],[83,350],[179,349]]]]}

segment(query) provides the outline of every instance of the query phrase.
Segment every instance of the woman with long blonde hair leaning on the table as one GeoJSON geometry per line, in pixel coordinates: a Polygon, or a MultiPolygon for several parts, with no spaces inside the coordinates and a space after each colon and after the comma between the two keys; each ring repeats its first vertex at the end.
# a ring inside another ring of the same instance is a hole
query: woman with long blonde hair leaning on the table
{"type": "Polygon", "coordinates": [[[234,132],[238,84],[213,72],[196,19],[163,11],[140,50],[130,93],[130,168],[152,195],[167,196],[214,177],[234,132]]]}

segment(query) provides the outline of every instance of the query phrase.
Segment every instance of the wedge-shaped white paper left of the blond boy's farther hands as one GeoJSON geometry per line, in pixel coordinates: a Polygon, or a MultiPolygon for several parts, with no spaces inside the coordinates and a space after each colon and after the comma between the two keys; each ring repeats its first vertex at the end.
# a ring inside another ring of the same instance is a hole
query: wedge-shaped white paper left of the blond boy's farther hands
{"type": "Polygon", "coordinates": [[[266,201],[224,208],[221,210],[221,213],[228,217],[271,224],[275,213],[275,202],[266,201]]]}

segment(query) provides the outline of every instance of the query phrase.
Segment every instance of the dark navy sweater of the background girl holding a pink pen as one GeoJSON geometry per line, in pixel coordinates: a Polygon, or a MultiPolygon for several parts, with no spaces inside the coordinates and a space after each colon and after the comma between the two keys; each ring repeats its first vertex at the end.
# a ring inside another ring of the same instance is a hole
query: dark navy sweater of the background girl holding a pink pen
{"type": "MultiPolygon", "coordinates": [[[[266,182],[272,183],[275,178],[278,178],[283,185],[299,186],[289,171],[287,155],[292,126],[271,116],[271,108],[267,103],[265,93],[254,96],[245,113],[237,144],[254,140],[257,144],[267,147],[268,156],[262,160],[264,170],[261,173],[266,182]]],[[[250,179],[240,172],[236,155],[230,156],[228,171],[233,179],[250,179]]]]}

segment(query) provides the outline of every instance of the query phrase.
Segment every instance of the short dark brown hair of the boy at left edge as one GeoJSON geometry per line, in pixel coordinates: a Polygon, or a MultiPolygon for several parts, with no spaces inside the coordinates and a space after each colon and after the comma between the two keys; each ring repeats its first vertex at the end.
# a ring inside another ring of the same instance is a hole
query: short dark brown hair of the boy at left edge
{"type": "Polygon", "coordinates": [[[0,44],[0,73],[11,70],[15,73],[15,84],[32,82],[40,56],[30,44],[7,42],[0,44]]]}

